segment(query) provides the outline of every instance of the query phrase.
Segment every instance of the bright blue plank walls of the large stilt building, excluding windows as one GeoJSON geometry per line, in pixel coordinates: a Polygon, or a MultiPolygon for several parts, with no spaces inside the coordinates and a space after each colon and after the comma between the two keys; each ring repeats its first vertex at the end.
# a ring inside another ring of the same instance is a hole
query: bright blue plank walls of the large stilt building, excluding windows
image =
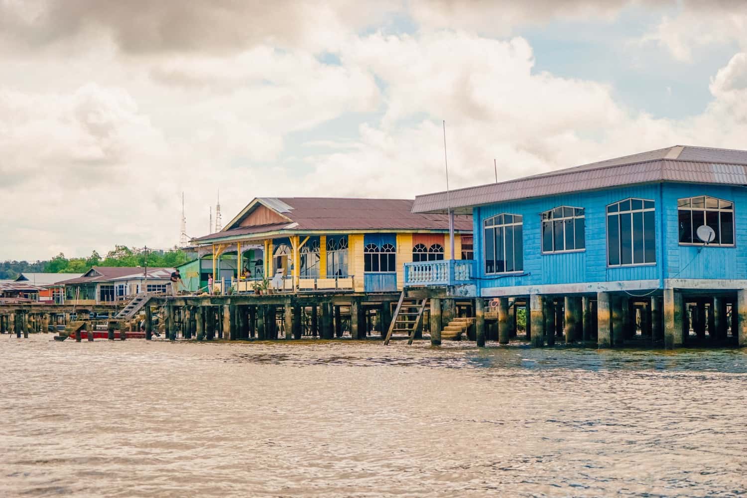
{"type": "Polygon", "coordinates": [[[474,208],[477,284],[486,288],[653,279],[663,284],[663,278],[747,278],[747,217],[740,217],[740,208],[746,207],[747,189],[743,187],[642,184],[474,208]],[[677,199],[701,195],[734,201],[736,247],[698,248],[679,244],[677,199]],[[630,197],[654,201],[656,263],[608,267],[607,205],[630,197]],[[580,252],[542,254],[541,214],[561,205],[584,208],[586,248],[580,252]],[[489,275],[485,269],[483,221],[502,213],[524,217],[524,271],[489,275]]]}

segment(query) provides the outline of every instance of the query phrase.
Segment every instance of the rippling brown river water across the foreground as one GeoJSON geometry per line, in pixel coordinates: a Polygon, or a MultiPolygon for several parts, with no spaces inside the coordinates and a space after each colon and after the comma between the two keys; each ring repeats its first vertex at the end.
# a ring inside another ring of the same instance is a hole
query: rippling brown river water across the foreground
{"type": "Polygon", "coordinates": [[[732,497],[747,352],[0,336],[0,495],[732,497]]]}

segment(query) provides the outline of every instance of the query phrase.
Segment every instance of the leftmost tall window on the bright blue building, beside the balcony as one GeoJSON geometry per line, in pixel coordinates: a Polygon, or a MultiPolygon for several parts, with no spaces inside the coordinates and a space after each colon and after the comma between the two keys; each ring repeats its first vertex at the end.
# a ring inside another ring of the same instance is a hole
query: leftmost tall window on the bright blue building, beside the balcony
{"type": "Polygon", "coordinates": [[[485,220],[485,273],[524,270],[522,220],[518,214],[499,214],[485,220]]]}

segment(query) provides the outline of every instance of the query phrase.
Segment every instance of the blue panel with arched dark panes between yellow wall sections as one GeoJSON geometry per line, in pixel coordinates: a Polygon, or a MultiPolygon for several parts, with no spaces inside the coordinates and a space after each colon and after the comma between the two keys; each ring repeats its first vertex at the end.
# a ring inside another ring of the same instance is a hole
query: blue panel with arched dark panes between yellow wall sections
{"type": "Polygon", "coordinates": [[[397,290],[397,235],[363,236],[363,284],[366,292],[397,290]]]}

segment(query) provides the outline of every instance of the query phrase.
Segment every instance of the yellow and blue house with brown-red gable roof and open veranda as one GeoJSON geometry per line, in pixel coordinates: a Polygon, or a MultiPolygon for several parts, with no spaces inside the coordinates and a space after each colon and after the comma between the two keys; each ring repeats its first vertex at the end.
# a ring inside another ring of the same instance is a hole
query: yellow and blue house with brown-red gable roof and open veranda
{"type": "MultiPolygon", "coordinates": [[[[204,287],[282,275],[285,290],[391,292],[403,288],[404,264],[448,260],[449,220],[412,213],[408,199],[261,197],[222,231],[193,240],[210,253],[192,272],[204,287]],[[226,258],[228,256],[228,258],[226,258]]],[[[455,220],[455,259],[471,258],[470,216],[455,220]]],[[[204,253],[203,253],[204,254],[204,253]]]]}

